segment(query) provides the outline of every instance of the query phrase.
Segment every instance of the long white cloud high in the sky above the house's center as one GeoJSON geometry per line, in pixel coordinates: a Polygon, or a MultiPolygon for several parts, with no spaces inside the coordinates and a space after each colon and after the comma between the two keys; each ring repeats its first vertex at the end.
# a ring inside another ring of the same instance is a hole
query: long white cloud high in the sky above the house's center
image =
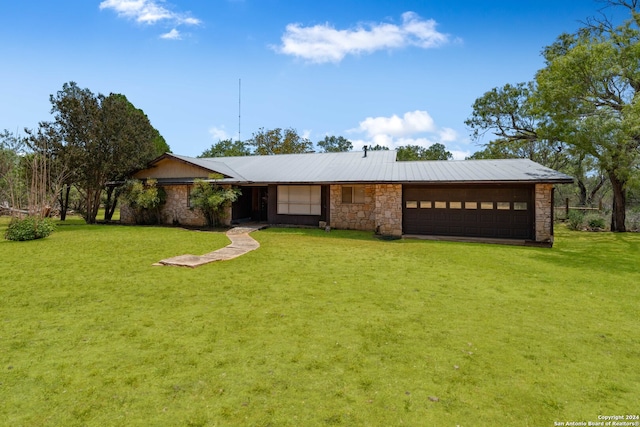
{"type": "Polygon", "coordinates": [[[422,19],[414,12],[403,13],[400,25],[377,23],[349,30],[338,30],[328,23],[312,27],[289,24],[281,38],[282,45],[275,49],[315,63],[340,62],[347,55],[382,49],[428,49],[449,41],[447,34],[436,30],[436,25],[434,20],[422,19]]]}

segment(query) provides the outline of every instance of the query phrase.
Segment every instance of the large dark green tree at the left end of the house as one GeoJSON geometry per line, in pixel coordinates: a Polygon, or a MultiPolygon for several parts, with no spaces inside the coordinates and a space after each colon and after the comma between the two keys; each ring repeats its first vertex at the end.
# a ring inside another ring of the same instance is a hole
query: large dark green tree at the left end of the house
{"type": "MultiPolygon", "coordinates": [[[[94,223],[106,184],[124,179],[169,147],[144,112],[124,95],[95,95],[70,82],[50,101],[54,121],[41,127],[55,129],[56,155],[73,171],[73,182],[84,199],[84,219],[94,223]]],[[[114,205],[108,198],[106,219],[114,205]]]]}

